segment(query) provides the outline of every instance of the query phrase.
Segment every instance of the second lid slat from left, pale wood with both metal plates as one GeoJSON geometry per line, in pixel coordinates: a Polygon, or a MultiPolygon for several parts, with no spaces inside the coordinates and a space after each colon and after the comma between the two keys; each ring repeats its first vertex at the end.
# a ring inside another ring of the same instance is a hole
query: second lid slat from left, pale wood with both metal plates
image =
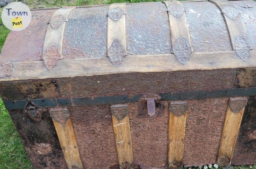
{"type": "Polygon", "coordinates": [[[119,66],[127,55],[125,36],[125,3],[111,4],[109,6],[107,29],[107,54],[110,58],[110,62],[115,66],[119,66]]]}

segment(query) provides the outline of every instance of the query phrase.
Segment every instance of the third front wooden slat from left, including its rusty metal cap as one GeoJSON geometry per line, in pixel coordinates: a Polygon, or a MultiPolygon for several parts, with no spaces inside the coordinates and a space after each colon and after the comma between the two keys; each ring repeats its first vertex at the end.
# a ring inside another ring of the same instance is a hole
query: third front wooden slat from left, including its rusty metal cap
{"type": "Polygon", "coordinates": [[[187,102],[176,101],[169,104],[168,169],[183,168],[187,109],[187,102]]]}

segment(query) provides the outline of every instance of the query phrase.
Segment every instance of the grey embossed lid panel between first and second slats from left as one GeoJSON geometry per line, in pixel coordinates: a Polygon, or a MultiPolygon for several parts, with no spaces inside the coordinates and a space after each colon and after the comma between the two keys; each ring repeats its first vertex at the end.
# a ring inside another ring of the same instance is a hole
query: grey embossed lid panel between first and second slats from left
{"type": "Polygon", "coordinates": [[[63,38],[64,59],[107,56],[107,13],[108,6],[70,12],[63,38]]]}

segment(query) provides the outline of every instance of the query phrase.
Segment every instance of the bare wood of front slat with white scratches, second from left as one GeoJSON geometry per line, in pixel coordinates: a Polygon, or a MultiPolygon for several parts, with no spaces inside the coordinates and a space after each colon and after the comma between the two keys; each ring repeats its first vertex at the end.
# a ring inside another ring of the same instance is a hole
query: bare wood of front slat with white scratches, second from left
{"type": "Polygon", "coordinates": [[[116,150],[120,169],[123,165],[128,163],[131,169],[134,167],[133,151],[132,151],[132,135],[129,122],[129,115],[127,114],[124,119],[118,120],[112,114],[113,129],[116,140],[116,150]]]}

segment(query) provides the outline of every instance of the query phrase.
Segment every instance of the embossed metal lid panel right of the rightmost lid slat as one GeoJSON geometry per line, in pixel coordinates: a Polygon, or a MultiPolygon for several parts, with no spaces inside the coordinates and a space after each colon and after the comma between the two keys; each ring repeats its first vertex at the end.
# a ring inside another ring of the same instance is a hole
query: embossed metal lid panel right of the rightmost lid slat
{"type": "Polygon", "coordinates": [[[252,49],[256,50],[256,3],[254,1],[230,1],[238,11],[241,13],[241,16],[244,21],[244,25],[249,35],[251,41],[252,49]],[[251,8],[244,8],[242,5],[249,5],[251,8]]]}

